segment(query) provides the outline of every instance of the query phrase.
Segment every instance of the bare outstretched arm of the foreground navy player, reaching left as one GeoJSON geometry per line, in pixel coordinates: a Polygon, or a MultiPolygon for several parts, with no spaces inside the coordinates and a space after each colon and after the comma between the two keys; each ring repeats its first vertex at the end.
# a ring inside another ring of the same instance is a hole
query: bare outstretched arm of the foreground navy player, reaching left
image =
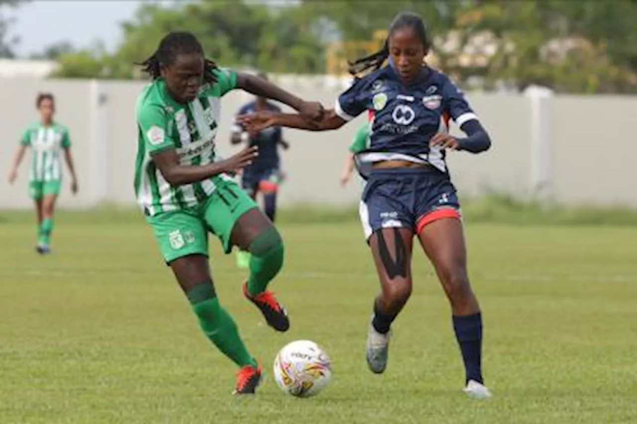
{"type": "Polygon", "coordinates": [[[268,127],[279,126],[308,131],[328,131],[345,125],[345,120],[333,109],[326,110],[318,120],[305,118],[296,113],[279,113],[273,111],[260,111],[241,115],[238,120],[250,131],[261,131],[268,127]]]}

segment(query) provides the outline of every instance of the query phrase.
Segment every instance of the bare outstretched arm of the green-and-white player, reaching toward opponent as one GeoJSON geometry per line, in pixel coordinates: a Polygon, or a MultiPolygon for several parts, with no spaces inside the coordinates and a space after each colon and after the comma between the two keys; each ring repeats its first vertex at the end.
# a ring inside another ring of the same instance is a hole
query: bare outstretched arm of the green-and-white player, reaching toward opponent
{"type": "Polygon", "coordinates": [[[296,97],[296,95],[283,90],[283,88],[278,87],[278,85],[274,85],[270,81],[259,78],[258,76],[238,73],[237,87],[250,94],[254,94],[259,97],[268,97],[268,99],[273,99],[287,104],[290,108],[299,111],[301,115],[311,119],[317,119],[323,113],[323,106],[320,103],[306,102],[303,99],[296,97]]]}

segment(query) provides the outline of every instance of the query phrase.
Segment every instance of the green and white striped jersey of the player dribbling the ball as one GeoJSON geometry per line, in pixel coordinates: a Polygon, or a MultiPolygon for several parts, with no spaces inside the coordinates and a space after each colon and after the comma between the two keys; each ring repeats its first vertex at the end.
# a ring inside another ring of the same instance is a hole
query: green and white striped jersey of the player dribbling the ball
{"type": "MultiPolygon", "coordinates": [[[[213,73],[217,82],[204,84],[188,104],[175,102],[162,78],[152,81],[138,98],[135,194],[147,216],[203,204],[217,188],[215,177],[172,187],[150,156],[175,149],[182,165],[201,166],[215,161],[220,98],[236,88],[237,74],[228,69],[215,69],[213,73]]],[[[217,178],[232,180],[225,174],[217,178]]]]}

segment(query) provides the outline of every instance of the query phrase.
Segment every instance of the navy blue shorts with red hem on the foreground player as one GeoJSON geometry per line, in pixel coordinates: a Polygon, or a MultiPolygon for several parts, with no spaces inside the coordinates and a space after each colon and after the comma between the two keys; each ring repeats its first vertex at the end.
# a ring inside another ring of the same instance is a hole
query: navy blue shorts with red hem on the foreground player
{"type": "Polygon", "coordinates": [[[461,218],[454,185],[433,167],[373,169],[359,213],[366,239],[383,228],[408,228],[419,234],[435,220],[461,218]]]}

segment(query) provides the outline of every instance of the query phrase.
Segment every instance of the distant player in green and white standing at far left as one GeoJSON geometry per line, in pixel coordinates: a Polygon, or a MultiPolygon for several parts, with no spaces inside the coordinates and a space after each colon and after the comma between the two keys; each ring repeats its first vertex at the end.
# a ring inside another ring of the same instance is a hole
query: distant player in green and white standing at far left
{"type": "Polygon", "coordinates": [[[62,187],[61,152],[71,174],[71,192],[78,190],[73,155],[71,155],[71,139],[64,125],[53,120],[55,99],[52,94],[39,94],[36,108],[40,113],[39,122],[33,122],[24,132],[20,140],[13,165],[9,171],[9,182],[18,178],[18,166],[22,162],[27,148],[31,148],[31,169],[29,170],[29,194],[35,202],[38,215],[38,244],[36,250],[40,254],[49,253],[55,201],[62,187]]]}

